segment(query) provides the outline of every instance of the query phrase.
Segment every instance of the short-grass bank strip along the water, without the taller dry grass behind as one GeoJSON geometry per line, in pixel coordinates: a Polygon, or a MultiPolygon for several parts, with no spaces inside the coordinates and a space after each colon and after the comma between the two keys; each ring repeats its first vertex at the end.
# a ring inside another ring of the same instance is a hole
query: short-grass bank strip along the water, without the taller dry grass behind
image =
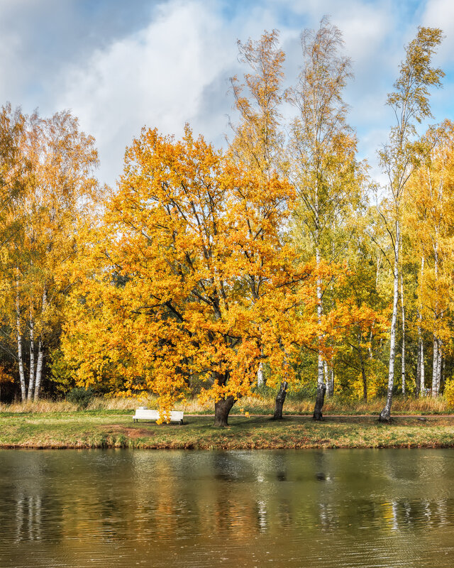
{"type": "Polygon", "coordinates": [[[0,413],[1,448],[299,449],[454,447],[454,417],[231,416],[215,428],[213,418],[185,415],[183,425],[135,423],[132,413],[85,410],[0,413]]]}

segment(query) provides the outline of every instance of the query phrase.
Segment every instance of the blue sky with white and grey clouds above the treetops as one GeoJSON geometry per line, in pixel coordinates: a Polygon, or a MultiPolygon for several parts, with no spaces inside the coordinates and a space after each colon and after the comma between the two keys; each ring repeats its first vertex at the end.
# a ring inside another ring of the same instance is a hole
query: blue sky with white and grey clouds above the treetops
{"type": "Polygon", "coordinates": [[[228,78],[245,70],[237,40],[280,31],[287,84],[299,35],[323,15],[343,32],[355,80],[345,90],[360,157],[375,163],[392,116],[384,107],[418,26],[443,29],[434,121],[454,119],[452,0],[0,0],[0,104],[43,116],[71,109],[96,138],[99,179],[114,185],[142,126],[179,136],[185,122],[216,145],[233,114],[228,78]]]}

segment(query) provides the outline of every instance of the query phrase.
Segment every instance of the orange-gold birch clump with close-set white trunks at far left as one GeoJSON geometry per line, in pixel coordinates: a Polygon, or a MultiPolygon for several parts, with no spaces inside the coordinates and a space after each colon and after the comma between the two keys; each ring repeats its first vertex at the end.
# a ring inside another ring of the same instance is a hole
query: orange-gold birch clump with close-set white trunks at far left
{"type": "Polygon", "coordinates": [[[50,119],[33,114],[23,126],[27,175],[9,208],[16,234],[4,245],[2,267],[10,329],[4,349],[11,352],[16,343],[22,399],[38,400],[46,349],[60,336],[67,273],[77,255],[77,224],[96,192],[92,170],[97,155],[93,138],[79,131],[69,112],[50,119]]]}

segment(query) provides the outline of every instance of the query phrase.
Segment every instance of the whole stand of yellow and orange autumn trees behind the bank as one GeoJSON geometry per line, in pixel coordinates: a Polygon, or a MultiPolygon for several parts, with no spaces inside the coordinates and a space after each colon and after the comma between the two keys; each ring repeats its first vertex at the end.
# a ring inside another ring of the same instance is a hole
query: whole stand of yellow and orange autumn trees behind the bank
{"type": "Polygon", "coordinates": [[[61,111],[0,112],[0,401],[100,395],[214,405],[260,388],[314,400],[454,403],[454,123],[431,114],[438,28],[402,52],[377,141],[358,159],[353,79],[328,18],[284,88],[278,31],[238,41],[225,148],[145,126],[117,187],[61,111]],[[437,119],[438,120],[438,119],[437,119]],[[375,159],[374,156],[370,157],[375,159]]]}

